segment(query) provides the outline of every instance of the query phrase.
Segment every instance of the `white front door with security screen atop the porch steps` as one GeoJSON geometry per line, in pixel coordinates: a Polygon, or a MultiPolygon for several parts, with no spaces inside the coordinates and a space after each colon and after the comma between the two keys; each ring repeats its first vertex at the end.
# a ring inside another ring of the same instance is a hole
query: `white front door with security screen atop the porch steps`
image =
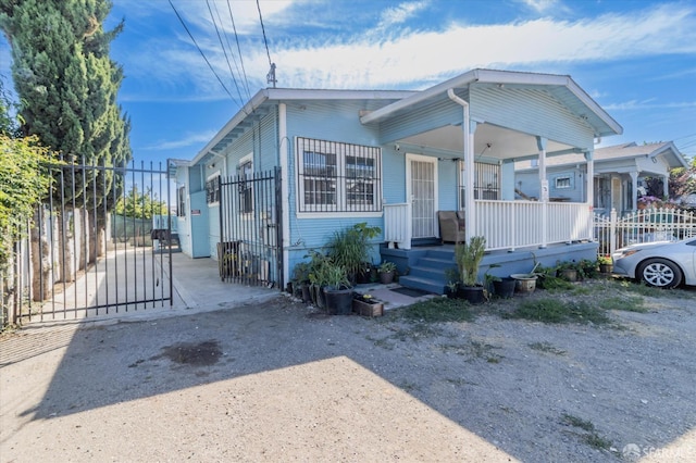
{"type": "Polygon", "coordinates": [[[412,238],[437,236],[437,158],[406,155],[406,197],[411,201],[412,238]]]}

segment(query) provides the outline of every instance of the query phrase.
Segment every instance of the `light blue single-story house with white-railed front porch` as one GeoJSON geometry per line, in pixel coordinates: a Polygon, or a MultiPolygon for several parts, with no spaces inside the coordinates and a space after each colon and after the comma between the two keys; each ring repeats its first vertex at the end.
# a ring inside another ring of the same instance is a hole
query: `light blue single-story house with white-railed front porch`
{"type": "MultiPolygon", "coordinates": [[[[422,91],[260,90],[190,161],[173,161],[178,230],[221,275],[284,287],[337,229],[378,226],[373,262],[442,292],[451,246],[438,211],[486,237],[484,270],[594,259],[592,188],[552,202],[547,159],[622,132],[570,76],[474,70],[422,91]],[[536,160],[539,200],[515,199],[514,163],[536,160]],[[225,258],[227,255],[227,258],[225,258]],[[408,275],[407,275],[408,274],[408,275]]],[[[586,182],[586,179],[579,179],[586,182]]],[[[592,185],[592,184],[589,184],[592,185]]]]}

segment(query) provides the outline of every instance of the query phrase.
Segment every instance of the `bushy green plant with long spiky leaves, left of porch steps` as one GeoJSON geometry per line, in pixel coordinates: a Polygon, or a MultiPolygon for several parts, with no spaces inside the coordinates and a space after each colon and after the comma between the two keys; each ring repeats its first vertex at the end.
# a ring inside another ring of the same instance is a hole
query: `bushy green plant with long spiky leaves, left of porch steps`
{"type": "Polygon", "coordinates": [[[380,227],[368,226],[366,222],[334,233],[328,242],[328,256],[332,262],[346,270],[350,281],[355,283],[361,271],[365,271],[365,263],[370,262],[371,245],[369,241],[380,236],[381,233],[380,227]]]}

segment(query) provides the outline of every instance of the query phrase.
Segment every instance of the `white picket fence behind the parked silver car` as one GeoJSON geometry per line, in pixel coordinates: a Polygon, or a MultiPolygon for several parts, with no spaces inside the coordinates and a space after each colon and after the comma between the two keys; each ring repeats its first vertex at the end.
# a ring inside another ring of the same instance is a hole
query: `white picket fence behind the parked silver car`
{"type": "Polygon", "coordinates": [[[595,239],[599,253],[611,254],[629,245],[676,241],[696,237],[696,214],[681,209],[644,209],[618,216],[595,214],[595,239]]]}

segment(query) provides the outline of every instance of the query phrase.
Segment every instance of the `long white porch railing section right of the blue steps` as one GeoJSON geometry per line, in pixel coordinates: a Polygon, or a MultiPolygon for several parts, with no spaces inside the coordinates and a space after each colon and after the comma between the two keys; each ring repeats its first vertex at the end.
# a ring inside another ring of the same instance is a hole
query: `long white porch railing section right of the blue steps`
{"type": "Polygon", "coordinates": [[[592,212],[585,203],[477,200],[474,208],[475,224],[470,236],[485,236],[488,250],[571,242],[593,236],[592,212]]]}

